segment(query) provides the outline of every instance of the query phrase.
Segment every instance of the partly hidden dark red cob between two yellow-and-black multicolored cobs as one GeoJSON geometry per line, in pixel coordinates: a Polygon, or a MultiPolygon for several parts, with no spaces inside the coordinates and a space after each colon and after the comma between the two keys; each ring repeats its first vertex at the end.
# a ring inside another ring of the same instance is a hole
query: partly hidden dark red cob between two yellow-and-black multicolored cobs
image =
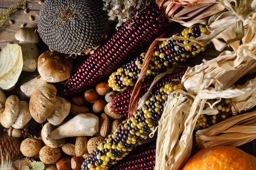
{"type": "MultiPolygon", "coordinates": [[[[173,79],[182,79],[185,72],[186,69],[177,71],[173,74],[168,74],[165,77],[163,77],[163,79],[161,79],[159,82],[157,82],[156,85],[154,85],[154,88],[151,91],[151,95],[154,94],[154,92],[158,91],[167,82],[170,82],[173,79]]],[[[140,97],[142,97],[148,91],[152,82],[153,81],[143,82],[140,97]]],[[[110,103],[108,103],[106,107],[106,109],[108,109],[108,112],[128,116],[129,104],[133,89],[134,87],[116,94],[113,100],[110,103]]]]}

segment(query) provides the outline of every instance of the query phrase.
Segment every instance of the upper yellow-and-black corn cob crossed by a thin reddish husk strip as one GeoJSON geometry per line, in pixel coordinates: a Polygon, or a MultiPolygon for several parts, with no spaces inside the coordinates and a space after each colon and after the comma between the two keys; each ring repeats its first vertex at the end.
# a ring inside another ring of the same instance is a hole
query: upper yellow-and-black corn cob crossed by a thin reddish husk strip
{"type": "MultiPolygon", "coordinates": [[[[205,25],[195,24],[184,29],[181,34],[178,33],[172,37],[183,36],[195,39],[205,34],[210,34],[210,32],[207,31],[207,28],[205,28],[205,25]]],[[[186,61],[186,58],[194,57],[201,51],[205,51],[205,49],[210,47],[211,43],[209,42],[205,47],[202,47],[197,43],[181,47],[180,45],[177,45],[177,42],[185,45],[189,43],[187,40],[169,40],[160,42],[155,47],[147,73],[143,77],[143,81],[147,81],[157,74],[167,71],[173,65],[177,65],[178,62],[186,61]]],[[[140,54],[140,57],[137,57],[112,73],[108,79],[109,87],[113,88],[114,91],[124,91],[134,86],[140,76],[145,53],[140,54]]]]}

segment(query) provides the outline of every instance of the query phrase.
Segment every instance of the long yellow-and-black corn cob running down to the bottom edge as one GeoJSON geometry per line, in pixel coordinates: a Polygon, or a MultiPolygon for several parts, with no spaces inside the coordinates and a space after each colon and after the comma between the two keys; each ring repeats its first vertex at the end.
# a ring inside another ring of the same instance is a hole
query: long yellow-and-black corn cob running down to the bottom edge
{"type": "Polygon", "coordinates": [[[172,91],[182,89],[180,80],[173,80],[148,99],[135,116],[122,122],[116,132],[109,135],[83,162],[83,170],[106,170],[142,144],[152,127],[158,125],[167,97],[172,91]]]}

